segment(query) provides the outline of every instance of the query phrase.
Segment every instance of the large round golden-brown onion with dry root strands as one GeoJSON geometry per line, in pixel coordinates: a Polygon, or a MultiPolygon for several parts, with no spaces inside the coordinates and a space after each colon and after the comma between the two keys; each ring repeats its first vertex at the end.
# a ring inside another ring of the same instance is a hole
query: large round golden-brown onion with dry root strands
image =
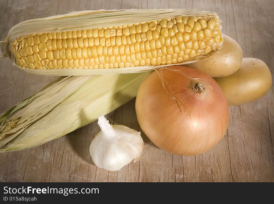
{"type": "Polygon", "coordinates": [[[147,137],[177,155],[209,150],[223,138],[228,126],[229,108],[220,86],[187,66],[151,73],[139,88],[135,106],[147,137]]]}

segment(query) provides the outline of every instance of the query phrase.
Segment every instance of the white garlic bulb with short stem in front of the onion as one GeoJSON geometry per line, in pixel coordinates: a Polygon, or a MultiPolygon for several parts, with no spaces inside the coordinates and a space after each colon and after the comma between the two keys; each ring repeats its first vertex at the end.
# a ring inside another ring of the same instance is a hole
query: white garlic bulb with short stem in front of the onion
{"type": "Polygon", "coordinates": [[[97,167],[117,171],[142,154],[144,141],[140,132],[125,125],[111,125],[104,116],[98,118],[98,125],[101,131],[89,147],[97,167]]]}

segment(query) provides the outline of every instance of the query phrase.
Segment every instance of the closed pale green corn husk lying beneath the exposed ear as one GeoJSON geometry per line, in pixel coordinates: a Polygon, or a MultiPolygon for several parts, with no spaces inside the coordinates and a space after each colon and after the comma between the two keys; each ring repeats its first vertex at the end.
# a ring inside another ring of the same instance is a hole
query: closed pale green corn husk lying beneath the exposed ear
{"type": "Polygon", "coordinates": [[[151,73],[61,77],[0,115],[0,152],[36,147],[97,120],[151,73]]]}

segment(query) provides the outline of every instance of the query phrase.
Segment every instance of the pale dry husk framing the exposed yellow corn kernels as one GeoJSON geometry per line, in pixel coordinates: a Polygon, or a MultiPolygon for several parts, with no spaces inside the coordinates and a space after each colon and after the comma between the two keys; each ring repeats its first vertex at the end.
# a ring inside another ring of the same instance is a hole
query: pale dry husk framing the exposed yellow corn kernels
{"type": "MultiPolygon", "coordinates": [[[[195,9],[131,9],[131,10],[99,10],[99,11],[77,11],[69,14],[50,16],[46,18],[33,19],[21,22],[13,26],[8,32],[5,41],[0,42],[0,57],[11,57],[9,44],[13,39],[27,34],[62,32],[72,30],[105,28],[118,25],[127,25],[153,20],[176,18],[179,16],[195,17],[197,19],[219,18],[215,12],[200,11],[195,9]]],[[[221,46],[221,43],[220,43],[221,46]]],[[[182,65],[196,62],[219,51],[219,48],[211,50],[209,53],[190,58],[181,63],[170,65],[182,65]]],[[[14,63],[15,65],[15,63],[14,63]]],[[[138,66],[112,69],[52,69],[52,70],[32,70],[21,68],[21,70],[36,75],[97,75],[97,74],[117,74],[117,73],[138,73],[153,70],[152,66],[138,66]]]]}

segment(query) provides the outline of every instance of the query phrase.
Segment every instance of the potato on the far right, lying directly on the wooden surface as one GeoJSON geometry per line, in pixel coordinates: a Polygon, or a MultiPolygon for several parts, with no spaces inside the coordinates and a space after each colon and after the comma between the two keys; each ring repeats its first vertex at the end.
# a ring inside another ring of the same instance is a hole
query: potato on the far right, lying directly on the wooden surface
{"type": "Polygon", "coordinates": [[[255,101],[272,86],[270,70],[256,58],[243,58],[241,67],[234,74],[214,79],[224,91],[229,106],[255,101]]]}

